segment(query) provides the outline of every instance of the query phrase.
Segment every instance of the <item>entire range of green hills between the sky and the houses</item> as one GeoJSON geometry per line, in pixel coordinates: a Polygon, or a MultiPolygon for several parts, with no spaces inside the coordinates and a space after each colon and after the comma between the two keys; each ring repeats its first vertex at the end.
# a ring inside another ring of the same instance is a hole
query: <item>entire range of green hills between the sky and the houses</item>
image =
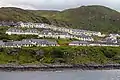
{"type": "Polygon", "coordinates": [[[43,22],[62,27],[120,33],[120,13],[99,5],[81,6],[64,11],[0,8],[0,20],[43,22]]]}

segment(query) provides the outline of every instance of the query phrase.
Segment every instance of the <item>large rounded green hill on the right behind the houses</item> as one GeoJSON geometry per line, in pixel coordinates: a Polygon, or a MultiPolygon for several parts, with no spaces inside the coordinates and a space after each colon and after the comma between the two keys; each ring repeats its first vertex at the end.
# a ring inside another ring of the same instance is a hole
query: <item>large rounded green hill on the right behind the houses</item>
{"type": "MultiPolygon", "coordinates": [[[[64,10],[61,12],[54,12],[53,15],[48,14],[49,11],[40,13],[40,15],[48,15],[49,18],[57,20],[64,20],[72,23],[73,28],[82,28],[103,32],[120,32],[120,13],[108,7],[94,5],[81,6],[64,10]]],[[[47,17],[47,16],[44,16],[47,17]]]]}

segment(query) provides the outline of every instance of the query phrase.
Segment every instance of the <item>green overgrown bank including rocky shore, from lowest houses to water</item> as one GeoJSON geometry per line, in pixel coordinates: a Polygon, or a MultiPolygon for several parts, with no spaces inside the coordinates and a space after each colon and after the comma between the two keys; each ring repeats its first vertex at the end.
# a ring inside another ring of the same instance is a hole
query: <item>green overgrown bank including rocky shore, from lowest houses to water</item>
{"type": "Polygon", "coordinates": [[[0,71],[120,69],[120,47],[0,48],[0,71]]]}

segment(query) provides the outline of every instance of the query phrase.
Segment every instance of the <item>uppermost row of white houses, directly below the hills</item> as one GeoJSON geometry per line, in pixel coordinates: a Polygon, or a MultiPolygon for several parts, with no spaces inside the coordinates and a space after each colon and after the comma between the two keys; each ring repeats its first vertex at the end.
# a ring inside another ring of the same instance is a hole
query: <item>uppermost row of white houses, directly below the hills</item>
{"type": "Polygon", "coordinates": [[[22,28],[44,28],[44,29],[51,29],[53,31],[67,32],[67,33],[72,34],[72,35],[84,34],[86,36],[94,35],[94,36],[99,36],[99,37],[105,37],[105,35],[101,34],[101,32],[58,27],[58,26],[48,25],[48,24],[44,24],[44,23],[18,22],[17,24],[18,24],[18,26],[16,26],[16,27],[22,27],[22,28]]]}

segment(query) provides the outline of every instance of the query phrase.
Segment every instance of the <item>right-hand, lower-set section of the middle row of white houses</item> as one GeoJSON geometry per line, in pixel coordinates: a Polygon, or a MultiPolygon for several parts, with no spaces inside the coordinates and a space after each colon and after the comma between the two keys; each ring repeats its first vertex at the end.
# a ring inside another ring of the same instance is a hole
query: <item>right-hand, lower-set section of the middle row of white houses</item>
{"type": "Polygon", "coordinates": [[[45,37],[45,38],[64,38],[64,39],[78,39],[78,40],[83,40],[83,41],[94,41],[94,39],[90,36],[86,35],[71,35],[66,32],[53,32],[50,30],[43,30],[40,34],[39,37],[45,37]]]}

